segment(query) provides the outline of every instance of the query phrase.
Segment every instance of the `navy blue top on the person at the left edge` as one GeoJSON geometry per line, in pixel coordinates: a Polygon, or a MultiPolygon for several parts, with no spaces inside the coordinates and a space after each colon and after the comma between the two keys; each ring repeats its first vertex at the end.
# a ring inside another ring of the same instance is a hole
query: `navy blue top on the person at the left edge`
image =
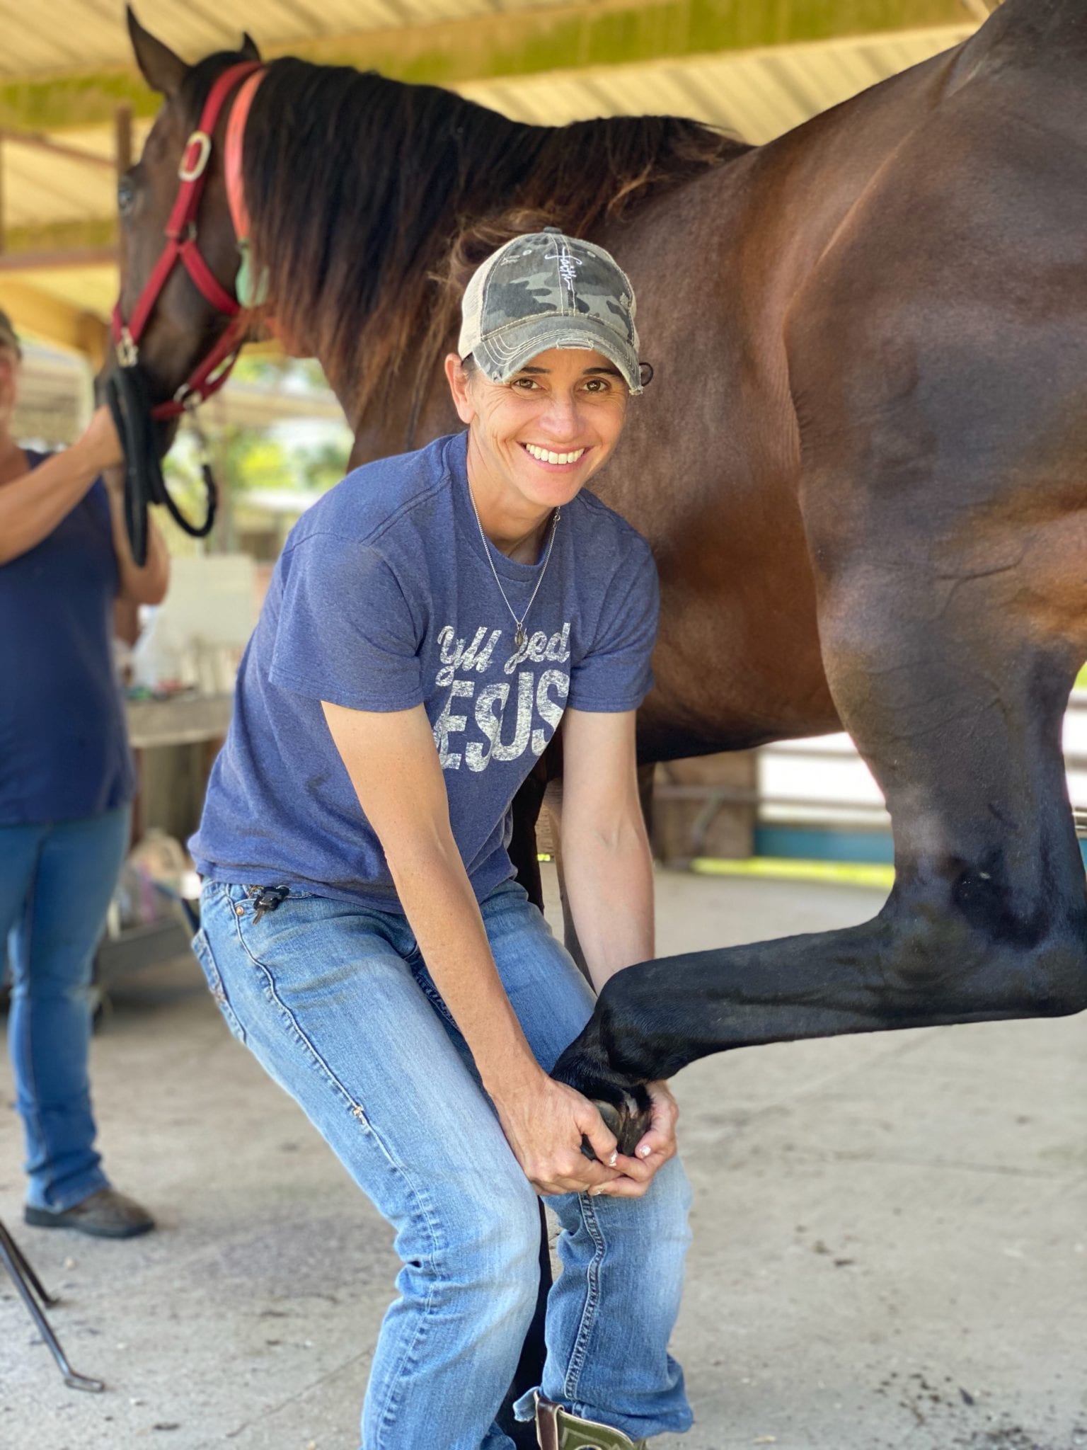
{"type": "MultiPolygon", "coordinates": [[[[33,468],[45,455],[26,457],[33,468]]],[[[132,796],[117,587],[101,478],[52,534],[0,564],[0,825],[99,815],[132,796]]]]}

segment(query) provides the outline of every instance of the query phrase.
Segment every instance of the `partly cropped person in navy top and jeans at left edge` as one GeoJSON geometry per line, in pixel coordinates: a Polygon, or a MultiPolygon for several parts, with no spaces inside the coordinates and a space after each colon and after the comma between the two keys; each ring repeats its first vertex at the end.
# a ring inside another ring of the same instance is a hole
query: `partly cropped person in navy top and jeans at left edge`
{"type": "Polygon", "coordinates": [[[145,567],[132,561],[123,497],[100,477],[120,457],[106,409],[65,452],[14,442],[20,357],[0,313],[0,945],[25,1218],[130,1238],[154,1219],[110,1188],[94,1148],[88,986],[133,792],[113,606],[158,603],[168,560],[154,534],[145,567]]]}

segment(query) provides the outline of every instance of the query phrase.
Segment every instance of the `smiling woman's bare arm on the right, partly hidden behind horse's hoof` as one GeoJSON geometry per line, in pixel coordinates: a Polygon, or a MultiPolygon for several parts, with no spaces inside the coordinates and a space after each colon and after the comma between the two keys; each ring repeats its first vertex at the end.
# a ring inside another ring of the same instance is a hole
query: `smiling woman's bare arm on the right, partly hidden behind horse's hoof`
{"type": "MultiPolygon", "coordinates": [[[[562,874],[586,966],[597,992],[654,956],[654,874],[638,799],[635,712],[568,709],[562,716],[562,874]]],[[[648,1132],[636,1157],[655,1173],[675,1154],[678,1108],[665,1083],[646,1083],[648,1132]]],[[[626,1182],[601,1192],[633,1196],[626,1182]]],[[[638,1192],[645,1192],[639,1185],[638,1192]]]]}

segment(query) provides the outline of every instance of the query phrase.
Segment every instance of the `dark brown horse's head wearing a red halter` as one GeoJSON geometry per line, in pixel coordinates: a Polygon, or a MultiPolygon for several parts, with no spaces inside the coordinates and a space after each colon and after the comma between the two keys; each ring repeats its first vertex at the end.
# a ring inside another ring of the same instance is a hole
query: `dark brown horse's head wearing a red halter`
{"type": "Polygon", "coordinates": [[[139,161],[117,184],[122,281],[113,334],[119,361],[133,361],[138,348],[162,419],[177,412],[170,400],[229,341],[228,329],[238,336],[241,258],[223,149],[232,102],[259,54],[246,35],[239,51],[190,67],[145,30],[130,7],[128,26],[143,80],[164,102],[139,161]],[[193,202],[181,226],[180,196],[193,202]]]}

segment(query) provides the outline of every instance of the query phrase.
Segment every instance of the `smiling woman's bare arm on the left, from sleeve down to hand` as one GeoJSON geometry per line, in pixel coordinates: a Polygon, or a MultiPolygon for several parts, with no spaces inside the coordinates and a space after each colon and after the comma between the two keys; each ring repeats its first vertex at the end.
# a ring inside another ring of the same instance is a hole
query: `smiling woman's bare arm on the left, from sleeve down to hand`
{"type": "Polygon", "coordinates": [[[491,957],[449,825],[445,780],[422,705],[352,710],[322,703],[367,821],[381,841],[419,950],[472,1051],[525,1174],[541,1193],[584,1192],[644,1164],[617,1157],[600,1114],[538,1066],[491,957]],[[581,1151],[581,1135],[600,1161],[581,1151]]]}

